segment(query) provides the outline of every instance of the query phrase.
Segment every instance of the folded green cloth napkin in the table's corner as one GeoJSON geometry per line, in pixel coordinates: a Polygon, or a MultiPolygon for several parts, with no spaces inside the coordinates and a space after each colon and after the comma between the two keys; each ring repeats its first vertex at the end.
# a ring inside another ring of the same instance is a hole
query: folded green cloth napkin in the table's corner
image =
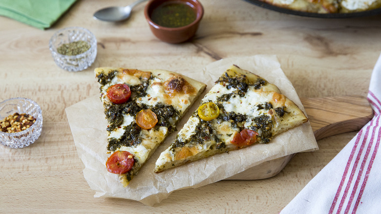
{"type": "Polygon", "coordinates": [[[45,29],[76,0],[0,0],[0,16],[45,29]]]}

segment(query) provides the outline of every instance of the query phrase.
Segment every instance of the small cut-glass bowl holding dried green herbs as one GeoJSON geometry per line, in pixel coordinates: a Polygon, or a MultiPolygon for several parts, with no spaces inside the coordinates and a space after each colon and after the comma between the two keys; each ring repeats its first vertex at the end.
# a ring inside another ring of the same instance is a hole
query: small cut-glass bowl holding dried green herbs
{"type": "Polygon", "coordinates": [[[56,64],[67,71],[85,70],[94,63],[97,56],[97,40],[89,30],[83,27],[67,27],[57,31],[49,41],[49,49],[56,64]],[[82,54],[68,56],[57,52],[62,44],[85,41],[90,48],[82,54]]]}

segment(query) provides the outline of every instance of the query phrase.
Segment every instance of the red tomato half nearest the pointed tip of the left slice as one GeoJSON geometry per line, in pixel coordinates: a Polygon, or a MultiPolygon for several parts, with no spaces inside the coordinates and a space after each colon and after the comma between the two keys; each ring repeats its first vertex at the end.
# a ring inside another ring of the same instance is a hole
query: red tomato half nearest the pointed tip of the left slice
{"type": "Polygon", "coordinates": [[[106,161],[107,171],[115,174],[124,174],[132,169],[134,157],[128,151],[115,151],[106,161]]]}

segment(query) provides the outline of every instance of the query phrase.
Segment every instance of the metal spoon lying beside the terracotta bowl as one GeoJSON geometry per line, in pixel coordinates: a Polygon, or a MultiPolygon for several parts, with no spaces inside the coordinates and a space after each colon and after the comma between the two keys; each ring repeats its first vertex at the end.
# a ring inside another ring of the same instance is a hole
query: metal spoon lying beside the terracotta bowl
{"type": "Polygon", "coordinates": [[[123,21],[130,17],[132,8],[146,0],[137,0],[126,7],[106,7],[94,13],[94,19],[101,21],[123,21]]]}

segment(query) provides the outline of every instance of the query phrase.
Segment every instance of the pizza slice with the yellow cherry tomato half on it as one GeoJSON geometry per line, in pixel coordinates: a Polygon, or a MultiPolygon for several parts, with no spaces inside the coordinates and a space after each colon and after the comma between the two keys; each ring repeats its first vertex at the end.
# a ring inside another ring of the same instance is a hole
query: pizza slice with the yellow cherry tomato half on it
{"type": "Polygon", "coordinates": [[[233,65],[160,154],[155,172],[254,143],[269,143],[275,135],[307,120],[275,85],[233,65]]]}

